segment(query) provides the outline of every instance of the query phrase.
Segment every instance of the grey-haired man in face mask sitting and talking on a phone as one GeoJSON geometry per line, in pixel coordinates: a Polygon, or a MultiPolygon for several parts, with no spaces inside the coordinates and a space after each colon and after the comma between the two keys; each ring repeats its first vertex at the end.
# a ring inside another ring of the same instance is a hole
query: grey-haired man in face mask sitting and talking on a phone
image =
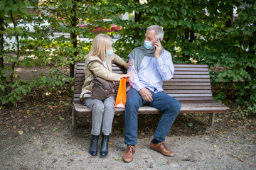
{"type": "Polygon", "coordinates": [[[130,69],[134,69],[136,74],[134,77],[129,77],[132,88],[127,92],[125,104],[124,143],[127,149],[123,155],[124,162],[132,162],[133,159],[137,145],[137,117],[139,107],[142,105],[164,112],[156,128],[154,139],[150,142],[150,148],[164,156],[174,156],[174,152],[167,149],[164,141],[181,110],[181,104],[165,94],[162,89],[163,81],[174,76],[171,53],[161,47],[163,37],[164,30],[160,26],[149,26],[146,28],[144,46],[136,47],[128,55],[130,62],[134,63],[130,69]]]}

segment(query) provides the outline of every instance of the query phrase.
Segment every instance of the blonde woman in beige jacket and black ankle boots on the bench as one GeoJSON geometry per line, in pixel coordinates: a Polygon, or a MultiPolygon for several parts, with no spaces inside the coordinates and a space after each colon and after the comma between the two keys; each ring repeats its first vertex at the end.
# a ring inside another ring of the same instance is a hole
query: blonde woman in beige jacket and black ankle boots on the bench
{"type": "Polygon", "coordinates": [[[100,136],[100,128],[102,126],[102,143],[100,148],[100,155],[105,157],[108,154],[109,136],[112,130],[112,121],[114,118],[114,94],[104,101],[92,98],[90,92],[92,91],[93,75],[87,68],[87,64],[92,60],[99,62],[91,62],[89,67],[97,77],[101,77],[110,81],[120,81],[123,77],[133,75],[133,72],[127,74],[116,74],[112,72],[112,61],[117,62],[127,69],[132,63],[127,63],[121,57],[113,53],[113,40],[109,35],[98,34],[92,41],[92,49],[85,56],[85,83],[82,86],[82,93],[80,99],[92,109],[92,130],[89,153],[92,156],[97,155],[97,142],[100,136]]]}

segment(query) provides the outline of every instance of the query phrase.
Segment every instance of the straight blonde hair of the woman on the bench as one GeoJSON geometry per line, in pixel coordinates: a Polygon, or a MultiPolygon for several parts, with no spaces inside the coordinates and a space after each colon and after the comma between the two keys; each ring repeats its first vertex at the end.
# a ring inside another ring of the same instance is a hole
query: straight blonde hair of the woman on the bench
{"type": "Polygon", "coordinates": [[[92,48],[85,57],[97,56],[104,62],[107,50],[112,47],[112,44],[113,40],[109,35],[100,33],[93,39],[92,48]]]}

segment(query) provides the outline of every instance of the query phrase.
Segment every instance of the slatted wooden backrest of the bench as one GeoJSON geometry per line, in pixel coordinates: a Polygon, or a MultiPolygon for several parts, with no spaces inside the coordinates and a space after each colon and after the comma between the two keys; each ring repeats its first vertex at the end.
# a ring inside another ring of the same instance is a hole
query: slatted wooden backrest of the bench
{"type": "MultiPolygon", "coordinates": [[[[74,103],[80,103],[79,97],[85,81],[85,63],[78,62],[75,72],[74,103]]],[[[210,76],[206,64],[174,64],[174,77],[164,81],[163,89],[166,94],[180,102],[213,101],[210,87],[210,76]]],[[[124,74],[124,69],[118,64],[112,64],[112,71],[124,74]]],[[[116,82],[118,88],[119,82],[116,82]]]]}

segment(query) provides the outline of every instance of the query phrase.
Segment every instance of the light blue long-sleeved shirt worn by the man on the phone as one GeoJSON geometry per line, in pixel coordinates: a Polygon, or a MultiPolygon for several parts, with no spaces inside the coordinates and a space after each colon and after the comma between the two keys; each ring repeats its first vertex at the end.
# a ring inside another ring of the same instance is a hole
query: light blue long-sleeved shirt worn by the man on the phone
{"type": "MultiPolygon", "coordinates": [[[[129,62],[133,62],[129,58],[129,62]]],[[[156,57],[144,56],[139,67],[139,74],[135,71],[134,65],[129,70],[134,70],[136,74],[129,77],[129,84],[132,88],[140,91],[142,88],[147,88],[154,93],[164,91],[162,88],[163,81],[168,81],[174,76],[174,63],[172,62],[171,53],[164,50],[159,59],[156,57]]]]}

